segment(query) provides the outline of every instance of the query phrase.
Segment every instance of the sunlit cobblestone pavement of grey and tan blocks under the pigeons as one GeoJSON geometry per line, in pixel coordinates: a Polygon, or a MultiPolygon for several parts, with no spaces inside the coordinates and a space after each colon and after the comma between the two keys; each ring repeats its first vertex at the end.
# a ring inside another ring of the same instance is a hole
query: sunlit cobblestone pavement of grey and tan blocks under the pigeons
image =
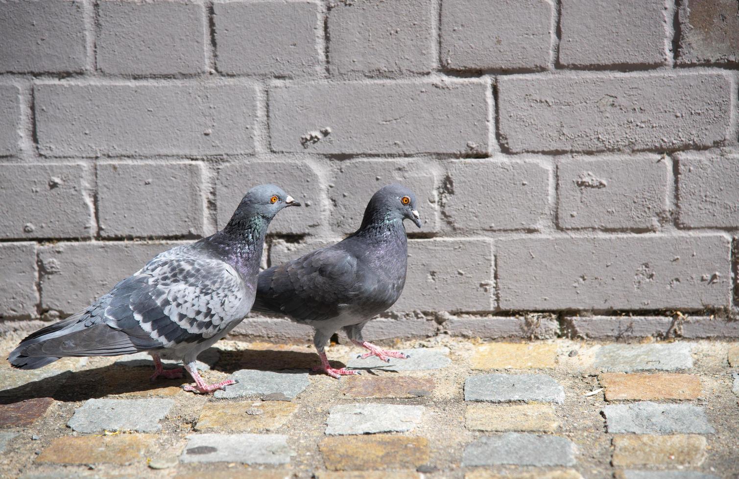
{"type": "Polygon", "coordinates": [[[411,358],[333,345],[363,373],[337,380],[310,345],[221,341],[205,379],[239,384],[214,396],[126,356],[3,361],[0,476],[739,477],[739,343],[393,346],[411,358]]]}

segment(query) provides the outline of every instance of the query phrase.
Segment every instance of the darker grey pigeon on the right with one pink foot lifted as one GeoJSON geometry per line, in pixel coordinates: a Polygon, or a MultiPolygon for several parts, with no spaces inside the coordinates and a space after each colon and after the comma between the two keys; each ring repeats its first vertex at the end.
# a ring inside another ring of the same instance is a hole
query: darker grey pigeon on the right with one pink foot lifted
{"type": "Polygon", "coordinates": [[[252,311],[282,314],[313,326],[313,343],[321,358],[314,371],[337,379],[358,373],[332,368],[328,362],[324,348],[339,328],[355,345],[369,350],[358,357],[406,359],[405,354],[384,351],[362,337],[364,325],[403,292],[408,263],[404,219],[421,227],[415,195],[401,185],[382,187],[369,200],[353,235],[259,273],[252,311]]]}

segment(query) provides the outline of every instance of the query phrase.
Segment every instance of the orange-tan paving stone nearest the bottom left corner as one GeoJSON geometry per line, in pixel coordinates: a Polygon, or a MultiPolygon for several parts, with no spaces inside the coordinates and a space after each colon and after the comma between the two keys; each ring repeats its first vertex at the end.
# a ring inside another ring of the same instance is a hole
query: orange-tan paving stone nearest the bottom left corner
{"type": "Polygon", "coordinates": [[[130,464],[144,461],[157,441],[154,434],[87,435],[55,438],[36,462],[55,464],[130,464]]]}

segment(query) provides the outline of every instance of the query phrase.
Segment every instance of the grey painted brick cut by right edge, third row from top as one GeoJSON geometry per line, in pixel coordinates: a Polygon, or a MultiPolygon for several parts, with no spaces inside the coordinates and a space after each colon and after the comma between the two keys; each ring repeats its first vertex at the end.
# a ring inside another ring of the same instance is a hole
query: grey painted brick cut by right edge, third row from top
{"type": "Polygon", "coordinates": [[[678,224],[739,227],[739,154],[678,155],[678,224]]]}

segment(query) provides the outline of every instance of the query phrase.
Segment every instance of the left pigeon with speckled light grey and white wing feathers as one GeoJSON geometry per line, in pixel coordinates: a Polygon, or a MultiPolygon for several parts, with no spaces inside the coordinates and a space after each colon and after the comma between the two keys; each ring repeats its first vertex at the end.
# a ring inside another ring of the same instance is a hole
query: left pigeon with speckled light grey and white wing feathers
{"type": "Polygon", "coordinates": [[[164,370],[163,357],[184,362],[196,384],[185,390],[211,393],[234,384],[206,385],[195,359],[251,309],[265,232],[287,206],[300,203],[274,185],[253,187],[223,230],[155,256],[91,306],[31,334],[10,353],[10,364],[36,369],[64,356],[148,351],[152,381],[183,377],[183,368],[164,370]]]}

